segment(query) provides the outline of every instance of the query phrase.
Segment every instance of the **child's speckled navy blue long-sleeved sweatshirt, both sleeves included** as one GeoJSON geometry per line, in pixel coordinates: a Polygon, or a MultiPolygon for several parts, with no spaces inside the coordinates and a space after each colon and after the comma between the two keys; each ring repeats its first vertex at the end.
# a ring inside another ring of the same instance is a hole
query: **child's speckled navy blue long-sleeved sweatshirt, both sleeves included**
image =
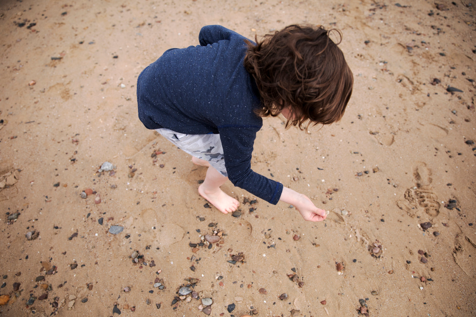
{"type": "Polygon", "coordinates": [[[139,119],[147,129],[219,133],[233,185],[276,205],[283,185],[251,169],[263,121],[256,82],[243,65],[246,38],[219,25],[198,35],[200,45],[170,49],[137,80],[139,119]]]}

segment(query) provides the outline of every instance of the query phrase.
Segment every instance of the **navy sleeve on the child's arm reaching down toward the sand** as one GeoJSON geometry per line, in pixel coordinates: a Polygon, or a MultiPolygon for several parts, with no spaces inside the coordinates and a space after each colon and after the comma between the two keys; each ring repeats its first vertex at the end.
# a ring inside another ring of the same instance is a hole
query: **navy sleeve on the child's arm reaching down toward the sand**
{"type": "Polygon", "coordinates": [[[251,169],[251,153],[260,127],[222,126],[218,127],[223,146],[228,179],[233,185],[276,205],[281,198],[283,184],[254,172],[251,169]]]}

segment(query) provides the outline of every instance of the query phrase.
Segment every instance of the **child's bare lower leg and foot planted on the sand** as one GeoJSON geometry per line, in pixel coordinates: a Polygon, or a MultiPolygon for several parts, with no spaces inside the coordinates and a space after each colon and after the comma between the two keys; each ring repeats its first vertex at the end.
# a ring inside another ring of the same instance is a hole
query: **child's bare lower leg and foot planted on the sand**
{"type": "Polygon", "coordinates": [[[198,187],[198,193],[224,214],[237,210],[239,206],[238,200],[220,189],[227,180],[228,177],[221,175],[215,168],[209,167],[205,180],[198,187]]]}

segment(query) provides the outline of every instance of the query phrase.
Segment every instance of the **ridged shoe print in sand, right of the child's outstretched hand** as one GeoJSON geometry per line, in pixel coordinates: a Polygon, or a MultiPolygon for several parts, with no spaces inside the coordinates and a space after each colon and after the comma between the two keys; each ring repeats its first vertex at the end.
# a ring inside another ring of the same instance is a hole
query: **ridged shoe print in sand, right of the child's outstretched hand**
{"type": "Polygon", "coordinates": [[[405,199],[397,201],[397,206],[406,210],[410,217],[415,217],[420,209],[423,209],[431,217],[438,216],[441,205],[431,186],[433,181],[431,170],[426,167],[425,163],[420,162],[413,169],[413,177],[415,186],[405,191],[405,199]]]}

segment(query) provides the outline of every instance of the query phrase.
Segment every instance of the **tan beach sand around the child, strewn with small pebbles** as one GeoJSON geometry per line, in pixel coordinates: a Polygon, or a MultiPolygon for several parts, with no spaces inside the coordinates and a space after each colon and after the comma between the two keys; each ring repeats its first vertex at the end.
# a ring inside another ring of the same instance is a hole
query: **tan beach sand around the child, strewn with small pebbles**
{"type": "Polygon", "coordinates": [[[359,299],[369,316],[474,316],[476,4],[440,2],[1,1],[0,169],[20,172],[0,183],[0,315],[205,316],[200,299],[171,305],[195,278],[210,316],[357,316],[359,299]],[[198,45],[204,25],[253,39],[293,23],[342,30],[353,96],[340,123],[311,134],[264,120],[252,166],[331,213],[305,222],[282,202],[243,203],[253,197],[229,182],[242,215],[204,208],[206,169],[143,127],[137,76],[198,45]],[[115,175],[98,172],[105,161],[115,175]],[[213,230],[219,243],[192,250],[213,230]]]}

